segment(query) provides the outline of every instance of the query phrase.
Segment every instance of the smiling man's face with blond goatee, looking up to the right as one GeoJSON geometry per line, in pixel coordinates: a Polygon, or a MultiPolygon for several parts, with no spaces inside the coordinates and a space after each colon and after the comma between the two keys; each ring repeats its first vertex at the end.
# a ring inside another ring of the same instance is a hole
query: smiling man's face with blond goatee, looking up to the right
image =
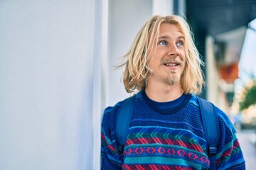
{"type": "Polygon", "coordinates": [[[149,63],[152,73],[148,81],[160,81],[171,86],[180,83],[186,61],[184,42],[178,26],[161,24],[156,53],[149,63]]]}

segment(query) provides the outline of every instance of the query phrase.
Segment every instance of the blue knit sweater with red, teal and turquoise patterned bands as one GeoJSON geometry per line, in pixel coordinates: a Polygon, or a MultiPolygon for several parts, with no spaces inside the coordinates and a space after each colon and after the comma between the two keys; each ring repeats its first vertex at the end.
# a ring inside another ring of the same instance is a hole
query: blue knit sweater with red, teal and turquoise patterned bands
{"type": "MultiPolygon", "coordinates": [[[[140,91],[134,102],[124,151],[117,147],[114,121],[119,102],[105,109],[102,120],[102,169],[209,169],[205,132],[196,96],[183,94],[175,101],[151,101],[140,91]]],[[[218,169],[245,169],[235,128],[216,108],[220,143],[218,169]]]]}

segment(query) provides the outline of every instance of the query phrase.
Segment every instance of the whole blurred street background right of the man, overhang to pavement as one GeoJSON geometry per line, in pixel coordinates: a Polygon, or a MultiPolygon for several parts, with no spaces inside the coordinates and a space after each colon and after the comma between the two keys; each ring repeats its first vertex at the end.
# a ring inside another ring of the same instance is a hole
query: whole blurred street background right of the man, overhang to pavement
{"type": "Polygon", "coordinates": [[[256,169],[256,1],[187,1],[206,62],[202,95],[228,114],[248,170],[256,169]]]}

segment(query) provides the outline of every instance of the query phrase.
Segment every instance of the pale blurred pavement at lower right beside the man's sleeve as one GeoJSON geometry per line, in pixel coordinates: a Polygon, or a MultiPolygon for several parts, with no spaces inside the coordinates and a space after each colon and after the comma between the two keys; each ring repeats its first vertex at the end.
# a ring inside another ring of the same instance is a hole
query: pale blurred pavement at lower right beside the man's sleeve
{"type": "Polygon", "coordinates": [[[256,169],[256,130],[238,130],[238,140],[247,170],[256,169]]]}

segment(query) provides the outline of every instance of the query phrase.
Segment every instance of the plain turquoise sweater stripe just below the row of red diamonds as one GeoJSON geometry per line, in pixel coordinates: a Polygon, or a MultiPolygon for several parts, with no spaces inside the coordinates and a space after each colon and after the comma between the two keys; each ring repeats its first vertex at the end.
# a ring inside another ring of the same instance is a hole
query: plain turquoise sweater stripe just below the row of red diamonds
{"type": "Polygon", "coordinates": [[[124,165],[128,166],[130,169],[133,169],[132,166],[140,164],[143,168],[148,167],[151,165],[163,165],[163,166],[183,166],[183,167],[201,167],[201,165],[205,166],[207,169],[210,163],[208,162],[208,159],[205,159],[204,162],[191,162],[190,160],[185,160],[183,158],[169,158],[169,157],[161,157],[161,159],[158,159],[158,157],[125,157],[124,165]],[[201,164],[201,165],[200,165],[201,164]]]}

